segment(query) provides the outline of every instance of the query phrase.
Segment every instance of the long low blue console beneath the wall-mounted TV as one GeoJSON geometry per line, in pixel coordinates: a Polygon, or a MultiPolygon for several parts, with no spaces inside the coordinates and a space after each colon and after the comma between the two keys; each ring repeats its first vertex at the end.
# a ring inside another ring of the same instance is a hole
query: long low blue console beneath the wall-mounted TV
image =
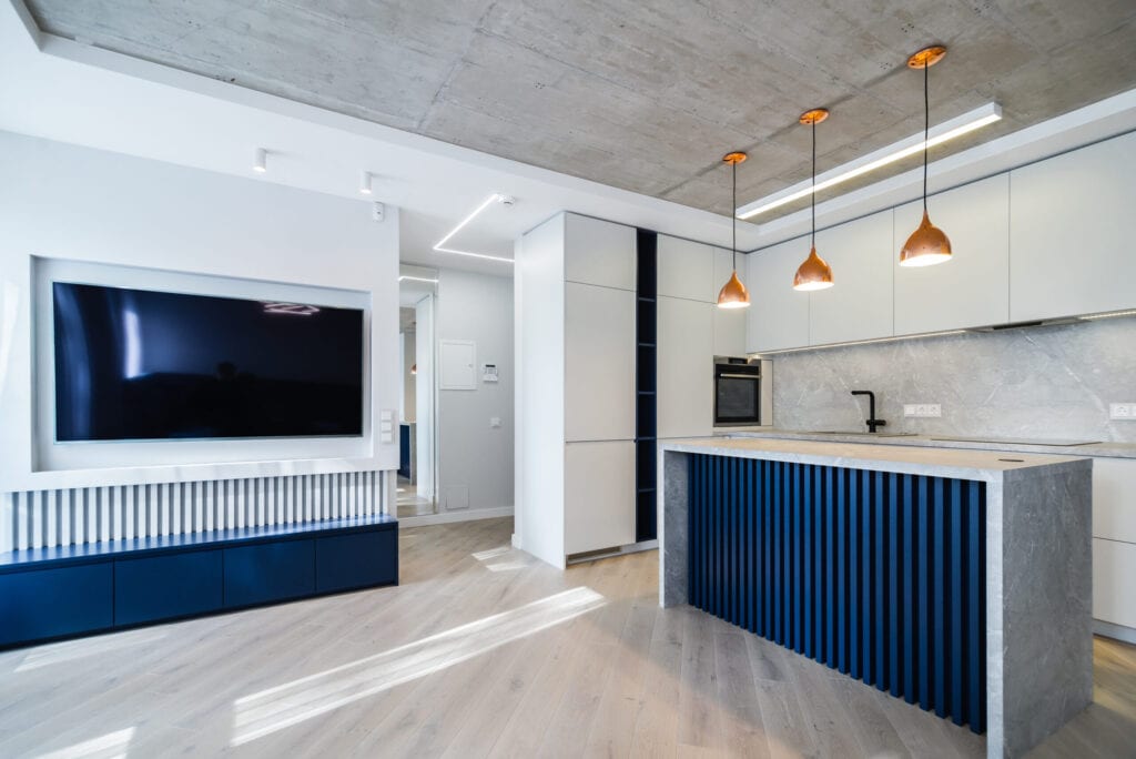
{"type": "Polygon", "coordinates": [[[399,583],[375,515],[0,554],[0,648],[399,583]]]}

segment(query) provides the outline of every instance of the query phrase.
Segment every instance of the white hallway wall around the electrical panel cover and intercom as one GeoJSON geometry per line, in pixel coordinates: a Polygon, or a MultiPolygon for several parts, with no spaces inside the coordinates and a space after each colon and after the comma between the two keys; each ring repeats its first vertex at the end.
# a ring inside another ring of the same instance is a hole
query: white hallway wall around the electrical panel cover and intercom
{"type": "Polygon", "coordinates": [[[442,269],[437,284],[437,341],[477,343],[477,389],[440,390],[437,401],[440,510],[512,507],[513,381],[512,280],[442,269]],[[482,382],[481,366],[496,364],[500,381],[482,382]],[[490,419],[499,417],[500,427],[490,419]],[[467,501],[468,497],[468,501],[467,501]]]}

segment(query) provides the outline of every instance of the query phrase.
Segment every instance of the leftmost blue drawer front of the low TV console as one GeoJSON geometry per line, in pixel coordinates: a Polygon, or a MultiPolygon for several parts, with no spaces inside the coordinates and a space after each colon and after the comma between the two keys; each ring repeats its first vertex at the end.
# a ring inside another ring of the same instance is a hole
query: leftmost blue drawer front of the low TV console
{"type": "Polygon", "coordinates": [[[0,645],[114,624],[111,564],[0,575],[0,645]]]}

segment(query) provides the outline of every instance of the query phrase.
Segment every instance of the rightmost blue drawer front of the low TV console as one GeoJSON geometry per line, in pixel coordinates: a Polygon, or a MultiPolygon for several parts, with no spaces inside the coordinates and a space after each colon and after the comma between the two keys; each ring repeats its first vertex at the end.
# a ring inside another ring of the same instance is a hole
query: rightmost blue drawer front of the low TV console
{"type": "Polygon", "coordinates": [[[393,529],[316,541],[316,590],[390,585],[399,581],[399,541],[393,529]]]}

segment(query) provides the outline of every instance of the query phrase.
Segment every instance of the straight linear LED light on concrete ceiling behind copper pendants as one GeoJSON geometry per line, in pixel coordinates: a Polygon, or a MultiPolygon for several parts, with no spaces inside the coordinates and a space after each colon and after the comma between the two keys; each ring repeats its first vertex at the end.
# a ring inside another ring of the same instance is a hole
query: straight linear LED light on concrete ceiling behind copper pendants
{"type": "MultiPolygon", "coordinates": [[[[853,180],[858,176],[867,174],[868,172],[875,172],[877,168],[887,166],[888,164],[894,164],[897,160],[907,158],[908,156],[914,156],[922,152],[924,147],[934,148],[935,145],[943,144],[949,140],[962,136],[963,134],[969,134],[975,130],[979,130],[987,124],[993,124],[1002,118],[1002,107],[996,102],[988,102],[985,106],[980,106],[971,111],[963,114],[962,116],[957,116],[949,122],[944,122],[938,126],[929,130],[927,132],[927,139],[924,140],[924,133],[912,134],[910,137],[894,142],[886,148],[880,148],[874,152],[868,153],[851,160],[847,164],[837,166],[836,168],[829,169],[817,177],[817,192],[821,190],[827,190],[828,187],[836,186],[849,180],[853,180]]],[[[786,203],[791,203],[794,200],[800,200],[801,198],[808,198],[812,192],[812,185],[809,182],[797,182],[791,187],[786,187],[780,192],[775,192],[771,195],[754,200],[751,203],[746,203],[737,209],[737,218],[749,219],[765,214],[766,211],[771,211],[775,208],[780,208],[786,203]]]]}

